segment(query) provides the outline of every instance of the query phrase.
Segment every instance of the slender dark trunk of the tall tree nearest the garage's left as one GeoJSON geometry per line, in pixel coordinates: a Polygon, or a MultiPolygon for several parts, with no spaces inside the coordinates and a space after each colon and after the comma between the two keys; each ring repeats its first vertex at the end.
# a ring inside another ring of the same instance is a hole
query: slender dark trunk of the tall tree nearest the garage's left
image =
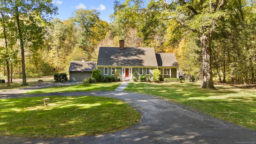
{"type": "Polygon", "coordinates": [[[26,86],[26,70],[25,70],[25,56],[24,56],[24,43],[23,43],[23,36],[22,31],[20,28],[20,16],[18,6],[16,6],[16,21],[17,21],[17,28],[18,28],[18,36],[20,39],[20,51],[21,51],[21,63],[22,63],[22,86],[26,86]]]}

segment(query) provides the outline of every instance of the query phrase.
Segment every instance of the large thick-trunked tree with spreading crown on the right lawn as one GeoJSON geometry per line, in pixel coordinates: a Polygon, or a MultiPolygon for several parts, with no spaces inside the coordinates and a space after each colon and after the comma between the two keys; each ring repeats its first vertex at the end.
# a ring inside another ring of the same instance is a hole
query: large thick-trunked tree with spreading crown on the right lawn
{"type": "Polygon", "coordinates": [[[214,88],[212,80],[212,39],[215,27],[224,15],[225,0],[151,0],[150,10],[160,10],[162,20],[175,20],[186,32],[198,36],[202,47],[202,88],[214,88]]]}

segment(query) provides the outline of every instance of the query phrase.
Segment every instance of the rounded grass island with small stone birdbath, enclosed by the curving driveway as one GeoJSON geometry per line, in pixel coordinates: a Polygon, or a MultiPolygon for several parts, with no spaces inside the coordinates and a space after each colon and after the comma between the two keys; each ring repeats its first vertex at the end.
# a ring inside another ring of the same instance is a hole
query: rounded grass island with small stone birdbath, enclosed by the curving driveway
{"type": "Polygon", "coordinates": [[[0,135],[57,138],[105,134],[128,128],[141,114],[125,102],[100,96],[51,96],[0,100],[0,135]]]}

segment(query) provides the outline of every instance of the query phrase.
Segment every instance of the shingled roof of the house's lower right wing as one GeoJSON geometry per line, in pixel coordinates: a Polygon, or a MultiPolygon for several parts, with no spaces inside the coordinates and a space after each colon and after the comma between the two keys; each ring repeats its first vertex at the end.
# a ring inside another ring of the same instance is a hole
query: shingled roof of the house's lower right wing
{"type": "Polygon", "coordinates": [[[156,53],[158,66],[179,66],[174,53],[156,53]]]}

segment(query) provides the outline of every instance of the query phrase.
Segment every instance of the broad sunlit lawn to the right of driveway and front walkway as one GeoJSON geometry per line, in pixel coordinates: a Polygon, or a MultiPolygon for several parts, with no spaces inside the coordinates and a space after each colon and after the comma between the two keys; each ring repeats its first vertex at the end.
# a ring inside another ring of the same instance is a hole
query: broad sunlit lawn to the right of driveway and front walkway
{"type": "Polygon", "coordinates": [[[185,82],[130,82],[125,91],[166,98],[256,130],[256,89],[215,85],[215,90],[185,82]]]}

